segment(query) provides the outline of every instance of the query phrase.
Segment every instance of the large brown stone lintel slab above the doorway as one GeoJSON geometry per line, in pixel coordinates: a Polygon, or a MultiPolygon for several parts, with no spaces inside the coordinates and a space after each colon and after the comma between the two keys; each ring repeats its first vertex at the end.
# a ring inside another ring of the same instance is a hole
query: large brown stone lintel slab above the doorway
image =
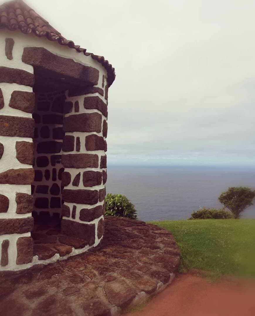
{"type": "Polygon", "coordinates": [[[97,85],[99,79],[97,69],[57,56],[43,47],[25,47],[22,62],[39,67],[39,71],[43,70],[48,76],[53,72],[57,79],[65,77],[65,81],[80,85],[97,85]]]}

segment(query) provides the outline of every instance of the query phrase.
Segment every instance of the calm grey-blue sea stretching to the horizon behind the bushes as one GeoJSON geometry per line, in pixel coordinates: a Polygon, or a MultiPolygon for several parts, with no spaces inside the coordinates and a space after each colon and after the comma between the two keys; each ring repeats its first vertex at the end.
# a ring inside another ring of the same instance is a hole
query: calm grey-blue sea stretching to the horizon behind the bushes
{"type": "MultiPolygon", "coordinates": [[[[126,195],[143,221],[183,219],[199,206],[220,208],[229,186],[255,189],[255,169],[234,167],[108,166],[107,193],[126,195]]],[[[255,207],[243,213],[255,218],[255,207]]]]}

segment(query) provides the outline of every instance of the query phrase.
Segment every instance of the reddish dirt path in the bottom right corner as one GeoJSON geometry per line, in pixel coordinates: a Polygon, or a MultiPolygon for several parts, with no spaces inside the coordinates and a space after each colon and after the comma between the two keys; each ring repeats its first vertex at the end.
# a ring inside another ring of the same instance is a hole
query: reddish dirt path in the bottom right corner
{"type": "Polygon", "coordinates": [[[254,316],[255,282],[208,283],[191,274],[177,276],[141,312],[125,316],[254,316]]]}

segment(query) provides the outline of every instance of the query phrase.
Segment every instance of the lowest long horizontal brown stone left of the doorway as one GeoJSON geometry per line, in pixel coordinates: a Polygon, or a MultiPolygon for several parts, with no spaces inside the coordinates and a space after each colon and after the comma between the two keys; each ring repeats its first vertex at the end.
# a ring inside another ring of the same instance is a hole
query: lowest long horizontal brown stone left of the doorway
{"type": "Polygon", "coordinates": [[[31,232],[33,227],[33,217],[0,219],[0,235],[24,234],[31,232]]]}

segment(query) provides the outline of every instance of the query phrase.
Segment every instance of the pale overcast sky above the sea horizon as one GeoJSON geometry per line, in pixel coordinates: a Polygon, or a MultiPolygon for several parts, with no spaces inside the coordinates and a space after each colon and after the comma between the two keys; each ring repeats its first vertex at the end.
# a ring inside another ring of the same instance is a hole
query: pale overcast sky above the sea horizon
{"type": "Polygon", "coordinates": [[[109,163],[255,165],[254,0],[25,0],[115,67],[109,163]]]}

